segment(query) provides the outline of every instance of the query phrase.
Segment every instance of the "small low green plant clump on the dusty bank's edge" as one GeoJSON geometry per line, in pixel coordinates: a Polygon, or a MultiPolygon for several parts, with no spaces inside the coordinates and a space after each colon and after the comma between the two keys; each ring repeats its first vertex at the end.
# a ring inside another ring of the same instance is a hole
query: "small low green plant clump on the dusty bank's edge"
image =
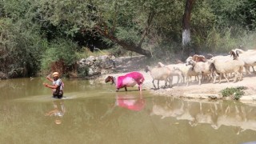
{"type": "Polygon", "coordinates": [[[242,97],[243,94],[245,94],[244,91],[242,90],[246,90],[247,87],[245,86],[238,86],[238,87],[231,87],[231,88],[226,88],[224,90],[221,90],[222,96],[223,97],[232,97],[235,100],[238,100],[239,98],[242,97]]]}

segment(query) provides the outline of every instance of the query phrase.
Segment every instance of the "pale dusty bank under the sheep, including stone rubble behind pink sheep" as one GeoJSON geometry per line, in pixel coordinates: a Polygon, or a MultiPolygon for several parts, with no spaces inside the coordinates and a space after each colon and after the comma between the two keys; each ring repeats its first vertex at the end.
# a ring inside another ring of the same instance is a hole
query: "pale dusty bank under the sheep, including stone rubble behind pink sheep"
{"type": "MultiPolygon", "coordinates": [[[[104,82],[107,75],[118,76],[126,74],[130,71],[140,71],[144,77],[145,82],[143,83],[143,89],[150,90],[153,94],[173,96],[178,98],[198,98],[198,99],[211,99],[211,98],[222,98],[221,90],[226,87],[237,87],[246,86],[247,89],[244,90],[245,94],[240,98],[241,102],[251,103],[256,102],[256,74],[251,76],[244,76],[242,81],[233,83],[227,83],[226,80],[222,79],[221,84],[213,84],[212,82],[202,82],[202,85],[198,85],[198,82],[191,82],[190,86],[186,84],[176,84],[177,78],[174,78],[174,86],[172,88],[163,88],[159,90],[154,90],[152,84],[152,78],[150,73],[146,73],[144,68],[149,63],[146,62],[144,57],[134,57],[134,58],[121,58],[117,59],[117,65],[111,74],[102,75],[99,80],[104,82]],[[122,59],[122,60],[121,60],[122,59]]],[[[155,85],[157,82],[155,81],[155,85]]],[[[160,82],[160,86],[164,86],[164,82],[160,82]]]]}

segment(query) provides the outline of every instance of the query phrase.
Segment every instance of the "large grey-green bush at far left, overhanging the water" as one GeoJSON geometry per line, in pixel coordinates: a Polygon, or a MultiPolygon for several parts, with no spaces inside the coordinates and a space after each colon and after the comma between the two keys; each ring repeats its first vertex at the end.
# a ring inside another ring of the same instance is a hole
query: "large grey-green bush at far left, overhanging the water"
{"type": "Polygon", "coordinates": [[[22,68],[23,76],[36,74],[39,69],[45,39],[35,32],[36,26],[27,29],[24,20],[13,23],[10,18],[0,19],[0,70],[9,72],[22,68]],[[28,70],[28,71],[27,71],[28,70]]]}

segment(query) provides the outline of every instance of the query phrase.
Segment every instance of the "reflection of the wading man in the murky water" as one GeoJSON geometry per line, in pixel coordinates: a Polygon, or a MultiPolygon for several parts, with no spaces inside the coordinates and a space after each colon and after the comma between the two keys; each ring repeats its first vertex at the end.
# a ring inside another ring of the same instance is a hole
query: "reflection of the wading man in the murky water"
{"type": "Polygon", "coordinates": [[[61,124],[62,118],[64,114],[66,113],[66,108],[64,106],[63,101],[54,101],[54,109],[47,112],[46,116],[54,116],[55,117],[55,123],[61,124]]]}

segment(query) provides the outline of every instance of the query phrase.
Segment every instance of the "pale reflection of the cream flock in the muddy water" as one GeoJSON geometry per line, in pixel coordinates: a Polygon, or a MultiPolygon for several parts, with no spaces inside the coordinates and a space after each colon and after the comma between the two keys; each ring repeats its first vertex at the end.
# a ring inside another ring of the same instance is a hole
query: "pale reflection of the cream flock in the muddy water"
{"type": "Polygon", "coordinates": [[[218,130],[221,126],[237,127],[237,134],[256,130],[256,108],[234,102],[192,102],[175,98],[154,98],[151,115],[187,120],[190,126],[210,124],[218,130]]]}

